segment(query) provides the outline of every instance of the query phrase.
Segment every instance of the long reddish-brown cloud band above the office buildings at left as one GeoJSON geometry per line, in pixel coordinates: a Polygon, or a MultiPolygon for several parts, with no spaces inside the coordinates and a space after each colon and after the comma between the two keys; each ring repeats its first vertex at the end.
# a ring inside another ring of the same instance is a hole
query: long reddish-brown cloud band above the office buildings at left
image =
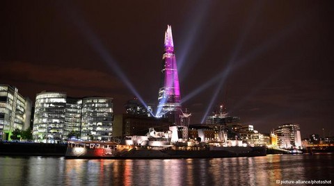
{"type": "Polygon", "coordinates": [[[13,81],[49,84],[93,90],[122,90],[125,87],[113,76],[96,69],[35,65],[29,62],[3,62],[1,76],[13,81]]]}

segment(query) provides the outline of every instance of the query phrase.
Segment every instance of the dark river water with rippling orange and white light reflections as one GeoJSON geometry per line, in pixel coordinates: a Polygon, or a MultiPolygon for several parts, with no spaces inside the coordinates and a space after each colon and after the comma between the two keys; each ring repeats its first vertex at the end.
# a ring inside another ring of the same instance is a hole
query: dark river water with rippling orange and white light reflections
{"type": "Polygon", "coordinates": [[[333,158],[333,154],[170,160],[0,156],[0,185],[294,185],[287,184],[292,180],[326,180],[334,185],[333,158]]]}

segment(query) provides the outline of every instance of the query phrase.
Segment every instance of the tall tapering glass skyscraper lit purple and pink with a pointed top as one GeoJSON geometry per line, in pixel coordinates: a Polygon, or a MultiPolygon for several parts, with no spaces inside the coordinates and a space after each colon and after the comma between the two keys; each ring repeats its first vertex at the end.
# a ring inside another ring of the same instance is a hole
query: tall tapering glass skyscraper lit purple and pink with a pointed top
{"type": "Polygon", "coordinates": [[[181,124],[181,95],[174,53],[172,27],[165,32],[164,55],[162,56],[162,79],[159,89],[157,117],[167,117],[175,125],[181,124]]]}

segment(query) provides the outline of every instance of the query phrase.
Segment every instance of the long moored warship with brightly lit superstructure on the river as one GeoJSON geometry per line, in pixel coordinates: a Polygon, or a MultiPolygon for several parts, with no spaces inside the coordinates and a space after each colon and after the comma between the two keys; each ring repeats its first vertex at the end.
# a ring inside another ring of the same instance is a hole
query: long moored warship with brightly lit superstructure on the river
{"type": "Polygon", "coordinates": [[[173,141],[173,132],[149,129],[145,136],[127,136],[119,143],[98,141],[68,142],[65,158],[171,159],[232,158],[267,155],[265,146],[248,146],[242,142],[173,141]],[[234,145],[233,145],[234,144],[234,145]]]}

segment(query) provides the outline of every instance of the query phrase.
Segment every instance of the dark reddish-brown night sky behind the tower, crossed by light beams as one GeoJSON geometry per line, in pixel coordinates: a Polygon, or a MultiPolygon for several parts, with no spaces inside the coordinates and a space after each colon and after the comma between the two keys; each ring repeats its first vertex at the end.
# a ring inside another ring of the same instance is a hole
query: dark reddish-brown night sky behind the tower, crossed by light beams
{"type": "Polygon", "coordinates": [[[0,84],[157,104],[172,26],[183,108],[334,135],[334,1],[1,1],[0,84]],[[216,92],[218,90],[218,92],[216,92]],[[216,99],[212,101],[216,94],[216,99]]]}

